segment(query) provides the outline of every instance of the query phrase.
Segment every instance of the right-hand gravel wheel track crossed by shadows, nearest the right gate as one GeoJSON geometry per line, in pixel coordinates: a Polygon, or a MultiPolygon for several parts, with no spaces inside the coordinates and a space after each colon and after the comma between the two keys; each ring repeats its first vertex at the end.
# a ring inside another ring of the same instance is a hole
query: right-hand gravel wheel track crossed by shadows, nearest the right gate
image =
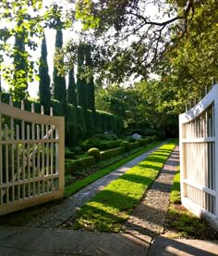
{"type": "Polygon", "coordinates": [[[124,225],[124,232],[134,237],[156,237],[163,232],[174,175],[179,165],[179,148],[175,148],[162,171],[124,225]]]}

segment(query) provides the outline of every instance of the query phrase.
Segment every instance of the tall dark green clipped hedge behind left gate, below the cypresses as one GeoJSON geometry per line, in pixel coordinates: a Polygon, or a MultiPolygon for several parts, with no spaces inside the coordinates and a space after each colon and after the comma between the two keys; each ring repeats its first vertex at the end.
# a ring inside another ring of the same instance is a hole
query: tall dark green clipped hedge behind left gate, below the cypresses
{"type": "MultiPolygon", "coordinates": [[[[2,101],[8,104],[9,95],[3,94],[2,101]]],[[[30,111],[32,103],[35,106],[35,112],[40,113],[41,105],[39,102],[26,100],[25,109],[30,111]]],[[[14,102],[14,106],[20,109],[20,102],[14,102]]],[[[51,101],[51,107],[54,110],[55,116],[65,117],[65,135],[67,147],[76,147],[79,145],[80,141],[87,139],[93,134],[101,134],[106,131],[120,134],[123,129],[122,120],[110,113],[98,110],[91,111],[90,109],[85,111],[80,107],[75,108],[71,104],[65,105],[57,100],[51,101]]],[[[45,114],[49,114],[48,109],[44,109],[44,112],[45,114]]],[[[18,121],[15,120],[15,125],[17,122],[18,121]]]]}

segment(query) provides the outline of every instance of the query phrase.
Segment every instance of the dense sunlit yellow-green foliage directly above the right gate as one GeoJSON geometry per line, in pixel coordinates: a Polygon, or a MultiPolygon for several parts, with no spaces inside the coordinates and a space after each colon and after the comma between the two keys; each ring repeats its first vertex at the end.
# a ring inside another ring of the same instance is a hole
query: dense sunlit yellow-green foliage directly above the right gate
{"type": "Polygon", "coordinates": [[[163,102],[164,108],[179,113],[185,111],[186,104],[193,107],[205,95],[205,87],[209,90],[217,81],[217,8],[214,0],[196,4],[186,34],[176,28],[172,31],[172,38],[179,33],[181,40],[158,67],[161,83],[172,92],[171,98],[163,102]]]}

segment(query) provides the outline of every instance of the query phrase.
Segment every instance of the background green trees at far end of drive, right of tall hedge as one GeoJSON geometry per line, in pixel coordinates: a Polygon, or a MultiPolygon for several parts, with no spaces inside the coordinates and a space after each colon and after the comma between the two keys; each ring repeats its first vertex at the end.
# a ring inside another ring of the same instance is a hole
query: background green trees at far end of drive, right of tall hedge
{"type": "Polygon", "coordinates": [[[136,83],[134,88],[111,85],[98,90],[96,107],[121,117],[129,134],[152,135],[167,131],[172,136],[176,135],[178,122],[174,109],[163,105],[173,96],[173,92],[167,90],[164,84],[155,81],[136,83]],[[171,131],[175,134],[170,134],[171,131]]]}

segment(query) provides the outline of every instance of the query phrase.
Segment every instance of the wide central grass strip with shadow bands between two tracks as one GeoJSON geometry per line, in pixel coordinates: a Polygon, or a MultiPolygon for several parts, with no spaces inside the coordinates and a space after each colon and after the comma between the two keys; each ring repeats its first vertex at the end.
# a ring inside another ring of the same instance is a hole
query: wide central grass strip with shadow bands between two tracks
{"type": "Polygon", "coordinates": [[[176,142],[173,140],[159,147],[146,160],[106,186],[77,212],[74,228],[119,232],[176,147],[176,142]]]}

